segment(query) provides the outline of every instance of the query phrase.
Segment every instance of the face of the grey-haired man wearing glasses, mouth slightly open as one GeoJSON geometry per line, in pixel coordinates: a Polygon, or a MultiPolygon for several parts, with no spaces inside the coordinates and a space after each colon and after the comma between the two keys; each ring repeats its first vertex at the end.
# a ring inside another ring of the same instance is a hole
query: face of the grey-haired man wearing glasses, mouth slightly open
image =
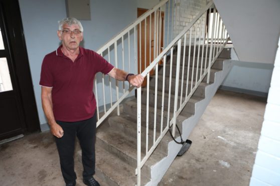
{"type": "Polygon", "coordinates": [[[62,26],[62,30],[57,31],[57,35],[60,40],[62,40],[62,45],[67,50],[75,50],[79,47],[80,42],[83,40],[83,33],[74,33],[74,30],[80,30],[79,25],[72,24],[69,26],[68,24],[64,24],[62,26]],[[66,31],[70,30],[70,33],[67,33],[66,31]]]}

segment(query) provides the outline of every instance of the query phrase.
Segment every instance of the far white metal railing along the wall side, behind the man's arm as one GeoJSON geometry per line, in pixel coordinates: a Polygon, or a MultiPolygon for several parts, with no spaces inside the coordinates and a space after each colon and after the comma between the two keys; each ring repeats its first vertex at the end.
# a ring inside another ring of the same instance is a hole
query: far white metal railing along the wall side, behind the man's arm
{"type": "MultiPolygon", "coordinates": [[[[163,46],[167,45],[170,42],[169,40],[172,40],[169,35],[174,19],[173,7],[174,0],[161,0],[159,4],[138,17],[100,47],[97,53],[117,68],[133,71],[134,66],[135,73],[141,73],[161,53],[163,46]],[[167,25],[161,18],[163,14],[164,20],[168,20],[167,25]],[[167,36],[164,36],[166,39],[162,39],[162,34],[167,34],[167,36]],[[143,49],[145,51],[142,51],[143,49]],[[139,61],[139,64],[137,61],[139,61]]],[[[119,103],[133,88],[127,82],[117,80],[113,82],[109,76],[96,75],[94,92],[97,104],[97,126],[115,108],[117,108],[117,114],[119,115],[119,103]],[[105,91],[107,89],[110,91],[105,91]],[[103,109],[101,110],[100,107],[103,107],[103,109]],[[99,115],[101,111],[104,113],[102,116],[99,115]]]]}

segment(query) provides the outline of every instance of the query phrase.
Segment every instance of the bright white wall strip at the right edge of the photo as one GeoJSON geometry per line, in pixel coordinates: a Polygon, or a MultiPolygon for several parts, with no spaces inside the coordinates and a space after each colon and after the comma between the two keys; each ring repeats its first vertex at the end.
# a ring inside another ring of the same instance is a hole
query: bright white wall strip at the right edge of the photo
{"type": "MultiPolygon", "coordinates": [[[[280,46],[280,38],[278,41],[280,46]]],[[[280,49],[278,48],[250,186],[280,185],[280,49]]]]}

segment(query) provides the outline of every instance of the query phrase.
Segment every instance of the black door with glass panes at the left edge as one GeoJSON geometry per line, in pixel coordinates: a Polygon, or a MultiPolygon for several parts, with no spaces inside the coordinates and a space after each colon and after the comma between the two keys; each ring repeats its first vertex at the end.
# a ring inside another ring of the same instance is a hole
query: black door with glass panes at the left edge
{"type": "Polygon", "coordinates": [[[0,0],[0,140],[39,130],[19,3],[0,0]]]}

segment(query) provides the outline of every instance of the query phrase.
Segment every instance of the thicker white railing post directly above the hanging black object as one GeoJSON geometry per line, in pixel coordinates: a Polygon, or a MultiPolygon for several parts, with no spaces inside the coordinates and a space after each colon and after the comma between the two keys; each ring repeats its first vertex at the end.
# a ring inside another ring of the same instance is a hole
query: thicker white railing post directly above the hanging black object
{"type": "Polygon", "coordinates": [[[180,60],[181,60],[181,47],[182,39],[178,41],[178,51],[177,51],[177,64],[176,64],[176,83],[175,83],[175,98],[174,98],[174,111],[173,111],[173,129],[172,135],[175,136],[176,131],[176,118],[177,118],[177,104],[178,104],[178,92],[179,92],[179,74],[180,74],[180,60]]]}

